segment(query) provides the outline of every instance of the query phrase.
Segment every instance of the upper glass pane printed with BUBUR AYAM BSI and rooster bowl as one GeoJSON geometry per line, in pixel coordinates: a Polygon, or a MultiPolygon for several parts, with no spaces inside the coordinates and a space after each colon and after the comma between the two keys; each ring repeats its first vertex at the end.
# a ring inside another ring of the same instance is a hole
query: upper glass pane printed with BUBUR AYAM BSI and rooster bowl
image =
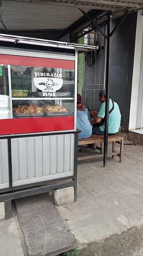
{"type": "Polygon", "coordinates": [[[12,97],[73,97],[74,69],[11,65],[12,97]]]}

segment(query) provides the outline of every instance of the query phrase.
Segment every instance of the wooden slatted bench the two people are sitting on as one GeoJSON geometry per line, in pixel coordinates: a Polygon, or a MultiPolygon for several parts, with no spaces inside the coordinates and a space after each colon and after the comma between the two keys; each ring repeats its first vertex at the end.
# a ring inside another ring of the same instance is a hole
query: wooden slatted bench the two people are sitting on
{"type": "MultiPolygon", "coordinates": [[[[118,156],[120,158],[120,163],[123,160],[123,145],[124,145],[124,135],[117,133],[112,136],[108,136],[108,142],[112,142],[112,153],[108,154],[108,156],[112,156],[114,158],[115,156],[118,156]],[[115,142],[120,141],[120,153],[117,153],[115,151],[115,142]]],[[[97,147],[97,150],[100,151],[100,154],[90,155],[90,156],[83,156],[78,157],[77,160],[85,160],[85,159],[92,159],[92,158],[98,158],[102,157],[103,155],[103,143],[104,143],[104,135],[92,135],[89,138],[85,139],[78,139],[78,145],[80,146],[86,146],[87,144],[98,144],[100,143],[100,147],[97,147]]]]}

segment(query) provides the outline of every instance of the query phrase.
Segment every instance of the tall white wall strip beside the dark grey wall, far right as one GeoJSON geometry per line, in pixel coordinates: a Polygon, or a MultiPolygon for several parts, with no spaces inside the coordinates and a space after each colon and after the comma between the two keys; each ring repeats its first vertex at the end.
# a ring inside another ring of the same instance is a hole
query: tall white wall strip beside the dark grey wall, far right
{"type": "Polygon", "coordinates": [[[142,10],[137,13],[137,28],[136,28],[136,41],[134,50],[134,67],[133,67],[133,80],[131,90],[131,106],[130,106],[130,119],[129,130],[136,129],[136,114],[137,114],[137,96],[139,88],[139,75],[140,75],[140,62],[143,43],[143,16],[142,10]]]}

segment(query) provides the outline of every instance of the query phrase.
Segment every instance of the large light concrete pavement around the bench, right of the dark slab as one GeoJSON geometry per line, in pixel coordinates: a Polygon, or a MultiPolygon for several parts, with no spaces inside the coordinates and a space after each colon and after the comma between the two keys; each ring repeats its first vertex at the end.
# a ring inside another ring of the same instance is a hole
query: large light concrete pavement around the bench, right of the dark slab
{"type": "Polygon", "coordinates": [[[57,209],[81,248],[143,223],[143,146],[124,145],[123,163],[109,157],[107,168],[79,162],[77,181],[77,202],[57,209]]]}

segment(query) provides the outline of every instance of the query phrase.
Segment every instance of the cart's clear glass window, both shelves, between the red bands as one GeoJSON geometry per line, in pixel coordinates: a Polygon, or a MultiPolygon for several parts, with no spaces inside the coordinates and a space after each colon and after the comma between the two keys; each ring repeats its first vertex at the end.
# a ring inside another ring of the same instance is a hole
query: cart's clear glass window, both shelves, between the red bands
{"type": "Polygon", "coordinates": [[[13,118],[74,113],[74,69],[10,66],[13,118]]]}

